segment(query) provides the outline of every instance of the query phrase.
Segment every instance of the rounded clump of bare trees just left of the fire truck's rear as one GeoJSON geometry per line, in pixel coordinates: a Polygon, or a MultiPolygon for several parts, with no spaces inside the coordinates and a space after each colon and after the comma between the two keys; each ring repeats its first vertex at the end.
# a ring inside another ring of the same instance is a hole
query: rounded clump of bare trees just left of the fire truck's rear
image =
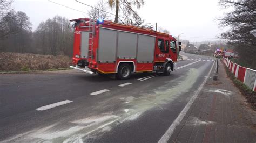
{"type": "Polygon", "coordinates": [[[69,20],[60,16],[40,23],[34,34],[38,53],[71,55],[73,31],[68,25],[69,20]]]}

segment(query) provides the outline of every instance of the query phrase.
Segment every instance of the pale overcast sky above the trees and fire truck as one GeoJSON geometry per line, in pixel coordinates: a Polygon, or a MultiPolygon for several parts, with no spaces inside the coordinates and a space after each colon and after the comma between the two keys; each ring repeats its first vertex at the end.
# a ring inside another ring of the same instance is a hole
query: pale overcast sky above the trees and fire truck
{"type": "MultiPolygon", "coordinates": [[[[79,12],[64,6],[57,5],[48,0],[15,0],[12,8],[16,11],[23,11],[33,24],[33,30],[38,24],[56,15],[68,19],[87,17],[87,12],[91,9],[75,0],[51,0],[70,8],[83,11],[79,12]]],[[[79,0],[89,5],[96,5],[98,0],[79,0]]],[[[107,0],[103,0],[107,2],[107,0]]],[[[158,23],[158,26],[170,31],[171,35],[180,35],[181,39],[191,42],[214,39],[223,30],[218,27],[218,17],[223,16],[224,10],[218,5],[219,0],[144,0],[145,5],[138,10],[139,15],[147,23],[158,23]]],[[[111,11],[114,13],[114,10],[111,11]]],[[[110,17],[111,19],[112,17],[110,17]]],[[[113,20],[113,18],[111,19],[113,20]]]]}

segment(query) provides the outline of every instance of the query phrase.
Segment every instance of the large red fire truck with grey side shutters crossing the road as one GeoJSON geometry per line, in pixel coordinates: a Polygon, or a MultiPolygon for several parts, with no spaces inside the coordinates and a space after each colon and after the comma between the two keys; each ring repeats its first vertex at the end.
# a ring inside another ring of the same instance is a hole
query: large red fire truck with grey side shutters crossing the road
{"type": "Polygon", "coordinates": [[[176,68],[180,46],[177,49],[176,39],[169,34],[107,20],[70,21],[75,22],[73,69],[116,74],[124,80],[131,73],[147,71],[170,75],[176,68]]]}

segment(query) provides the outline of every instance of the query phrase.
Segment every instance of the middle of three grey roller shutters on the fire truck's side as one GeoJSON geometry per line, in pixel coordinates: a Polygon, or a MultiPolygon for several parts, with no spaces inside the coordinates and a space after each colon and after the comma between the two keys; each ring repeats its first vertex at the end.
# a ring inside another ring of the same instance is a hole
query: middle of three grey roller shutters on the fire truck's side
{"type": "Polygon", "coordinates": [[[120,59],[136,58],[137,34],[118,31],[117,57],[120,59]]]}

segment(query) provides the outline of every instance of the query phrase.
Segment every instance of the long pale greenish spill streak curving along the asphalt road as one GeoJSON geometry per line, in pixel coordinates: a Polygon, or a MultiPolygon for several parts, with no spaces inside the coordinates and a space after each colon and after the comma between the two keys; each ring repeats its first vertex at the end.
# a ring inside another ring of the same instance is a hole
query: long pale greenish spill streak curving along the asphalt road
{"type": "MultiPolygon", "coordinates": [[[[139,93],[134,95],[136,97],[124,94],[122,95],[123,98],[118,97],[116,104],[121,103],[122,107],[116,112],[109,111],[79,120],[72,120],[66,123],[65,127],[63,127],[63,124],[55,123],[46,127],[46,130],[36,128],[28,133],[23,133],[23,135],[17,135],[17,138],[8,141],[80,142],[97,137],[104,132],[111,131],[111,128],[125,121],[139,118],[145,111],[151,109],[164,110],[165,104],[171,103],[192,88],[198,79],[198,75],[198,69],[189,69],[185,76],[167,81],[163,86],[150,90],[151,94],[139,93]],[[177,85],[170,88],[173,83],[177,83],[177,85]]],[[[107,100],[107,102],[109,101],[107,100]]],[[[111,106],[116,104],[111,104],[111,106]]]]}

